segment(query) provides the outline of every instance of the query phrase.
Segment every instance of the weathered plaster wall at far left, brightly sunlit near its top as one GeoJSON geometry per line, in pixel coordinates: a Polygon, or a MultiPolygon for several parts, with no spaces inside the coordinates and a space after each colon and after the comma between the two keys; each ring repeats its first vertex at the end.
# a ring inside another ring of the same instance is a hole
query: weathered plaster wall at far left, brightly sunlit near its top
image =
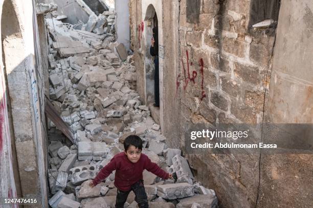
{"type": "MultiPolygon", "coordinates": [[[[4,1],[2,10],[2,48],[4,71],[10,100],[10,113],[15,142],[21,196],[36,198],[36,207],[47,207],[47,180],[42,133],[43,82],[38,81],[35,57],[39,43],[33,2],[4,1]],[[38,39],[37,39],[38,41],[38,39]],[[40,86],[38,86],[40,84],[40,86]]],[[[39,48],[40,50],[40,48],[39,48]]],[[[40,56],[37,53],[36,56],[40,56]]],[[[39,67],[40,68],[40,67],[39,67]]]]}

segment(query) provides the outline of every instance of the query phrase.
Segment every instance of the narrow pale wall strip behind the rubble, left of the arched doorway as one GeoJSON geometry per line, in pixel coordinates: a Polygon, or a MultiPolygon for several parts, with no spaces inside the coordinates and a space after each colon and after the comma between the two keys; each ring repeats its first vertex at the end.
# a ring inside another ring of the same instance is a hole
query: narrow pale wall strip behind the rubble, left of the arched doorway
{"type": "Polygon", "coordinates": [[[126,49],[130,46],[129,8],[128,0],[115,0],[117,41],[123,43],[126,49]]]}

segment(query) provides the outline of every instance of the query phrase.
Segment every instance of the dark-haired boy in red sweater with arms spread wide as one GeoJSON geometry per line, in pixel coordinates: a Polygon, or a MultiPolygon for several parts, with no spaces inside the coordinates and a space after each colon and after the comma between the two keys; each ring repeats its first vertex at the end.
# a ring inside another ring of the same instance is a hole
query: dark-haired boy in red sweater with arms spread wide
{"type": "Polygon", "coordinates": [[[96,186],[109,176],[113,170],[116,170],[114,185],[118,191],[115,207],[124,207],[124,203],[130,191],[135,193],[135,201],[137,201],[139,207],[149,207],[142,179],[144,169],[163,179],[173,178],[173,176],[162,170],[157,164],[152,163],[147,155],[141,153],[142,140],[140,137],[136,135],[126,137],[124,148],[125,152],[116,154],[114,158],[100,170],[94,180],[91,181],[90,186],[96,186]]]}

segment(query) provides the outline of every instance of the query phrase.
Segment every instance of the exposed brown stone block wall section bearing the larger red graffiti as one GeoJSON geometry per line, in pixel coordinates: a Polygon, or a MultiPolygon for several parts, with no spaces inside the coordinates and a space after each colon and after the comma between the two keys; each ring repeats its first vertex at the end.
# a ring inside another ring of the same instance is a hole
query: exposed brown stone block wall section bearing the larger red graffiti
{"type": "MultiPolygon", "coordinates": [[[[181,132],[185,132],[186,122],[262,122],[275,30],[250,29],[250,4],[237,0],[180,2],[181,67],[177,83],[181,132]]],[[[254,207],[258,154],[186,153],[186,157],[197,179],[217,192],[223,207],[254,207]]]]}

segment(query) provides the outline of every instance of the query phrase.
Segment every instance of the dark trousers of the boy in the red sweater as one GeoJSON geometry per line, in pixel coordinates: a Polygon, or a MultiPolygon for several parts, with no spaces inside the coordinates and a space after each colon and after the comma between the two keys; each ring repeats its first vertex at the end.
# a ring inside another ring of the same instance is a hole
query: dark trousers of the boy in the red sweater
{"type": "Polygon", "coordinates": [[[148,208],[148,197],[146,194],[145,187],[143,185],[143,180],[139,180],[136,184],[131,186],[131,189],[129,191],[121,191],[118,190],[118,194],[116,196],[116,208],[123,208],[124,203],[127,200],[128,194],[130,191],[133,191],[135,193],[135,201],[138,203],[139,207],[141,208],[148,208]]]}

